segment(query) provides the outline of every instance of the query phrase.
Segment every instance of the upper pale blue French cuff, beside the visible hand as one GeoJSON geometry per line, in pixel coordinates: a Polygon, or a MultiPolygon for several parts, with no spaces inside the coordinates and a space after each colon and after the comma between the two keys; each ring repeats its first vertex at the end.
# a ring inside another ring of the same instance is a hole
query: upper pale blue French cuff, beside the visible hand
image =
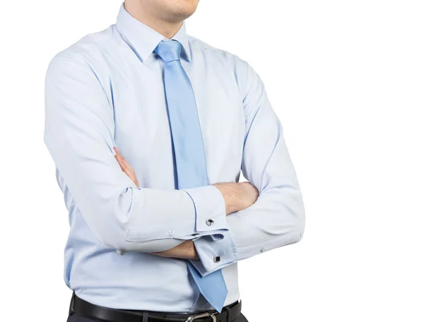
{"type": "Polygon", "coordinates": [[[228,231],[225,201],[216,186],[201,186],[182,189],[192,198],[195,210],[194,229],[197,234],[211,235],[213,240],[223,239],[223,232],[228,231]]]}

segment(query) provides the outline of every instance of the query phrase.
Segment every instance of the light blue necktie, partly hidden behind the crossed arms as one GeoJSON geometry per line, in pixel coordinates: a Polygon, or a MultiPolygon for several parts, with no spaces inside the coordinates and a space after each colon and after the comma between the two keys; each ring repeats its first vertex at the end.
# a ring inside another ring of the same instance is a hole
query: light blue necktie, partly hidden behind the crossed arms
{"type": "MultiPolygon", "coordinates": [[[[155,48],[155,53],[165,63],[163,81],[175,152],[177,189],[189,189],[207,186],[208,176],[196,100],[192,83],[180,61],[181,49],[182,45],[176,40],[164,40],[155,48]]],[[[216,270],[202,278],[192,263],[186,262],[199,292],[216,311],[222,311],[228,292],[222,271],[216,270]]]]}

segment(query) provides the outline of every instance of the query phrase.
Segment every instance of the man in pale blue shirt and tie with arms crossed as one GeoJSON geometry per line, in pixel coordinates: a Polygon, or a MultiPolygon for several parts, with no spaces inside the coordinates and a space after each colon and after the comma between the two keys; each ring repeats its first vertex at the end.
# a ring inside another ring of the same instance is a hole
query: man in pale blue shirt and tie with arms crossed
{"type": "Polygon", "coordinates": [[[126,0],[115,25],[49,65],[68,321],[247,321],[237,261],[302,238],[302,195],[264,85],[186,34],[197,4],[126,0]]]}

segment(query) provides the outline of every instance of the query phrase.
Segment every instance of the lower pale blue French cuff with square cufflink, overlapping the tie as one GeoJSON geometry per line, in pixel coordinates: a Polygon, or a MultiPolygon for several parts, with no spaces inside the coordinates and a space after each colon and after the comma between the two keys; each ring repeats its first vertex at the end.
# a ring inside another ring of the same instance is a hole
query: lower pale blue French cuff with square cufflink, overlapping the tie
{"type": "Polygon", "coordinates": [[[222,239],[203,236],[194,240],[199,261],[190,262],[202,277],[237,261],[237,248],[232,232],[228,230],[222,234],[222,239]]]}

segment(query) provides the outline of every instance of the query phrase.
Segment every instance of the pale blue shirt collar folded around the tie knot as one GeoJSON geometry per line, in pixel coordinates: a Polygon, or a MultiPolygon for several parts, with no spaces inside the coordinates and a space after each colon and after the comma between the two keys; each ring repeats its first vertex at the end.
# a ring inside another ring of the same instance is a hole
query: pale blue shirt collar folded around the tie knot
{"type": "MultiPolygon", "coordinates": [[[[126,39],[126,41],[134,47],[143,61],[151,55],[160,41],[167,39],[159,32],[131,16],[128,11],[126,11],[124,4],[122,4],[119,9],[116,27],[117,30],[121,32],[124,39],[126,39]]],[[[190,61],[192,56],[190,53],[189,40],[185,30],[185,22],[182,23],[181,28],[179,28],[177,33],[171,39],[178,40],[182,44],[182,57],[187,61],[190,61]]]]}

